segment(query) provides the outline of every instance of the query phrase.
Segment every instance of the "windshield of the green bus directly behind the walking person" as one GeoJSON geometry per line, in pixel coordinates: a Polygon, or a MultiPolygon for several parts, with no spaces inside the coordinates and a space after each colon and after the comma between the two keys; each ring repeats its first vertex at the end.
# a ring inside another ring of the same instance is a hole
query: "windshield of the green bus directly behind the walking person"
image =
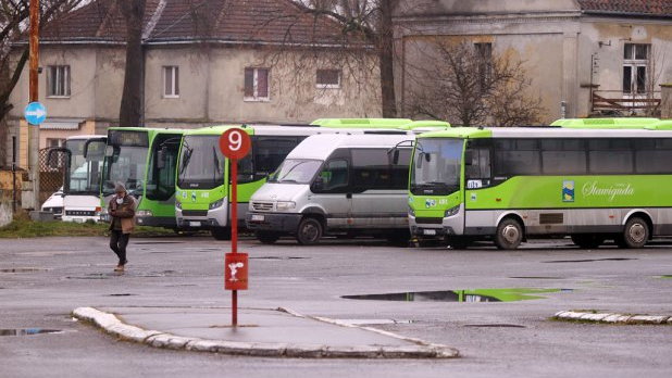
{"type": "Polygon", "coordinates": [[[114,193],[114,184],[124,182],[128,193],[142,193],[142,181],[147,167],[147,147],[114,146],[113,155],[105,159],[105,177],[102,192],[105,196],[114,193]]]}

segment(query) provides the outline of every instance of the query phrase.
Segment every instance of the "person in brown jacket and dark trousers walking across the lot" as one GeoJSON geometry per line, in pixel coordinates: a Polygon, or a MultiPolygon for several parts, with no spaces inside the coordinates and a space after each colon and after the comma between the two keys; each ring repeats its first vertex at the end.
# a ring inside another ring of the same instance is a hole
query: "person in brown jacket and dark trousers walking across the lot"
{"type": "Polygon", "coordinates": [[[114,186],[114,197],[108,204],[110,214],[110,248],[119,257],[119,264],[114,272],[124,272],[126,260],[126,245],[135,225],[136,201],[133,196],[128,196],[126,187],[117,182],[114,186]]]}

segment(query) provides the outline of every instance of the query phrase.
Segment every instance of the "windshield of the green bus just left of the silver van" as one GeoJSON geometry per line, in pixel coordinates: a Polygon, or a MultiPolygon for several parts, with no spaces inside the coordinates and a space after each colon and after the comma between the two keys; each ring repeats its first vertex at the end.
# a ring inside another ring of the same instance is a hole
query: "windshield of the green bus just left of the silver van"
{"type": "Polygon", "coordinates": [[[213,189],[224,185],[224,155],[220,136],[186,136],[177,168],[177,186],[213,189]]]}

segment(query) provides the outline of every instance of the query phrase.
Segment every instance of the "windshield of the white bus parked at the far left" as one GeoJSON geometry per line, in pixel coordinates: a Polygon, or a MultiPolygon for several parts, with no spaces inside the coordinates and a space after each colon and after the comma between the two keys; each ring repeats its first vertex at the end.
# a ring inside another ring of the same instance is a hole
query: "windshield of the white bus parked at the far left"
{"type": "Polygon", "coordinates": [[[66,194],[94,194],[100,190],[100,168],[104,151],[104,142],[94,142],[89,146],[89,153],[84,158],[86,139],[71,139],[65,142],[65,148],[71,152],[70,166],[67,167],[67,185],[64,186],[66,194]]]}

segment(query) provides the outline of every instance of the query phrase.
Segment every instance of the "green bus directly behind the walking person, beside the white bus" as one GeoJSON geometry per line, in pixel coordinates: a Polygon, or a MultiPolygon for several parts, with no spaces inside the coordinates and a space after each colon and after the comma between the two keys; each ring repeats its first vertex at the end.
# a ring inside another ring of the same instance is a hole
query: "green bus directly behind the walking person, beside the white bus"
{"type": "Polygon", "coordinates": [[[101,180],[103,218],[123,182],[138,199],[136,224],[176,229],[175,169],[183,129],[111,127],[108,130],[101,180]]]}

